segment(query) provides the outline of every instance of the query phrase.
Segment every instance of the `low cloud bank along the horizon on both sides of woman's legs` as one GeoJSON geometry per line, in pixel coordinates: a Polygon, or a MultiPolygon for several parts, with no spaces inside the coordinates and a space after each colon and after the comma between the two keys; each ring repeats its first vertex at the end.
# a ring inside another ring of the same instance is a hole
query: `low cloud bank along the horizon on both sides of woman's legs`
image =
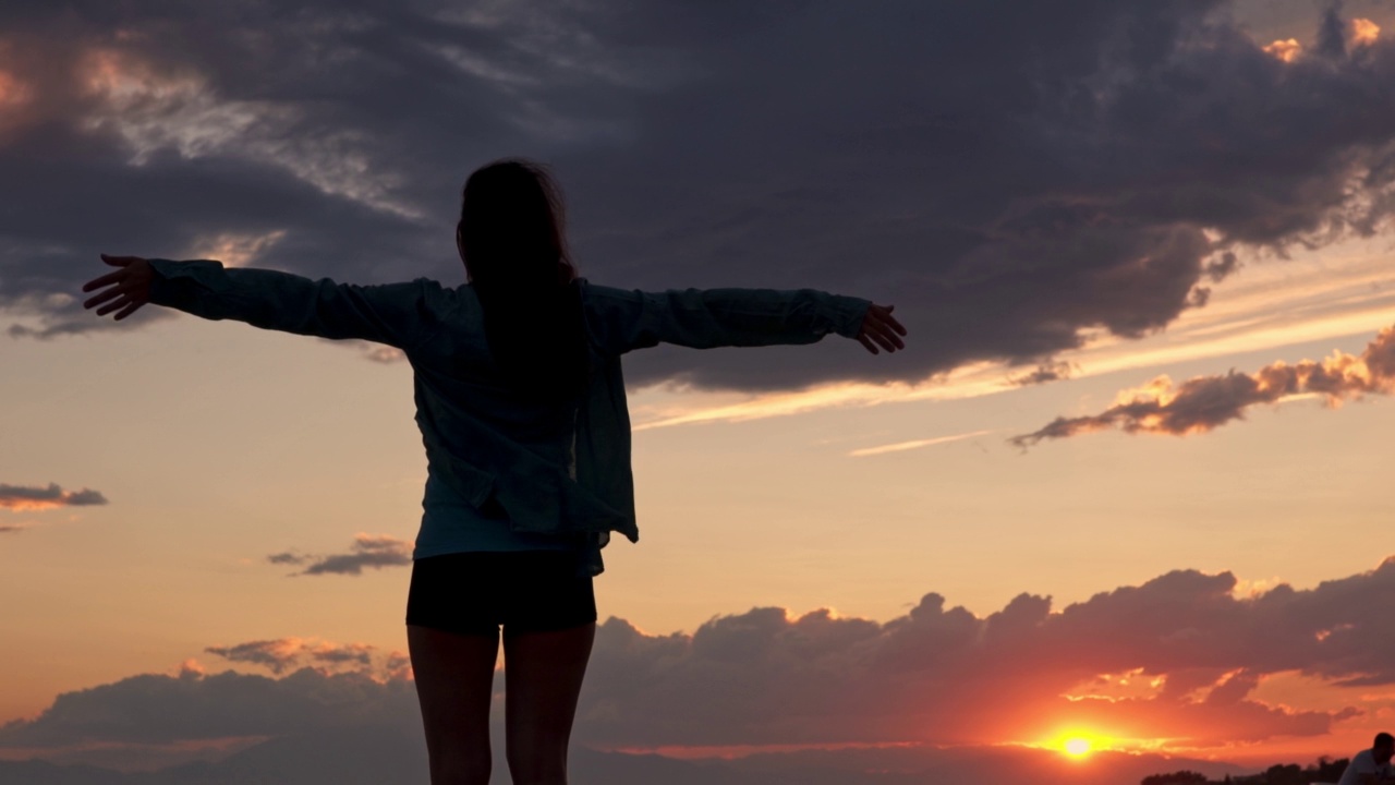
{"type": "MultiPolygon", "coordinates": [[[[1077,728],[1112,746],[1215,753],[1322,739],[1395,708],[1388,689],[1371,689],[1395,684],[1382,622],[1395,612],[1395,557],[1307,589],[1237,588],[1230,573],[1177,570],[1062,609],[1024,594],[986,616],[932,592],[884,623],[755,608],[650,634],[611,617],[597,631],[576,743],[974,747],[1077,728]],[[1297,693],[1264,698],[1276,677],[1309,680],[1313,705],[1297,693]]],[[[66,693],[0,728],[0,751],[414,726],[402,652],[318,638],[208,651],[273,677],[186,663],[174,676],[66,693]]]]}

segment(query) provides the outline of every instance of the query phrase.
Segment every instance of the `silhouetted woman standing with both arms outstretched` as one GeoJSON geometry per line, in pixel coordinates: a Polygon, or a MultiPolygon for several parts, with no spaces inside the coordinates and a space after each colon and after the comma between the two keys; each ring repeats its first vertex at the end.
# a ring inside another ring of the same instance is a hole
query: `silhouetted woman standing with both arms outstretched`
{"type": "Polygon", "coordinates": [[[591,578],[611,532],[639,538],[621,355],[812,344],[837,332],[904,348],[891,306],[812,289],[638,292],[589,284],[568,256],[541,166],[498,161],[465,184],[466,284],[356,286],[218,261],[102,257],[84,305],[400,348],[427,453],[407,644],[434,785],[490,778],[490,693],[502,627],[506,757],[516,785],[565,784],[596,634],[591,578]]]}

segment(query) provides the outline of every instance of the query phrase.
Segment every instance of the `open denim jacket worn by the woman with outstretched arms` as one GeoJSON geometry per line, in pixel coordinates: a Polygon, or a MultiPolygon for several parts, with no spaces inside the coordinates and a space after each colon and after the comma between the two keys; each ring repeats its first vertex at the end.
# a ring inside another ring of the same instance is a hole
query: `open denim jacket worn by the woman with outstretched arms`
{"type": "Polygon", "coordinates": [[[467,284],[360,286],[206,260],[156,258],[151,267],[155,305],[402,349],[414,374],[428,500],[448,492],[476,508],[497,504],[515,531],[575,536],[590,574],[603,568],[610,532],[639,539],[621,355],[660,342],[707,349],[852,338],[870,306],[813,289],[639,292],[583,279],[590,379],[580,399],[540,404],[504,383],[467,284]]]}

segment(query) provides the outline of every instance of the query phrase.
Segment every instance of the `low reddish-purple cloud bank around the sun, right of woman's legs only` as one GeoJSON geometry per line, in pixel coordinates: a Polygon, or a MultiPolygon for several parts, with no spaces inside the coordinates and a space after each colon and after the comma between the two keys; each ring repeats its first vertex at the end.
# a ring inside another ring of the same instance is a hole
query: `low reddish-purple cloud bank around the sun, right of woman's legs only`
{"type": "Polygon", "coordinates": [[[649,636],[611,619],[597,636],[578,733],[640,746],[972,744],[1081,726],[1222,747],[1322,736],[1362,711],[1256,700],[1254,687],[1275,675],[1395,683],[1378,622],[1395,603],[1395,559],[1313,589],[1236,598],[1236,584],[1229,573],[1184,570],[1059,612],[1021,595],[986,617],[928,594],[884,624],[763,608],[692,636],[649,636]],[[1131,696],[1092,686],[1130,672],[1156,686],[1131,696]]]}

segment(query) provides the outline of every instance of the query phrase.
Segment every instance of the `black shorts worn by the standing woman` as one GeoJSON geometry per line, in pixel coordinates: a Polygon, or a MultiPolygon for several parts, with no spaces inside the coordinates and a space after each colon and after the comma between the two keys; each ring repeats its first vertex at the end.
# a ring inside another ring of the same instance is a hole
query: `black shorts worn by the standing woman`
{"type": "Polygon", "coordinates": [[[596,622],[591,578],[569,550],[448,553],[417,559],[407,624],[465,636],[568,630],[596,622]]]}

